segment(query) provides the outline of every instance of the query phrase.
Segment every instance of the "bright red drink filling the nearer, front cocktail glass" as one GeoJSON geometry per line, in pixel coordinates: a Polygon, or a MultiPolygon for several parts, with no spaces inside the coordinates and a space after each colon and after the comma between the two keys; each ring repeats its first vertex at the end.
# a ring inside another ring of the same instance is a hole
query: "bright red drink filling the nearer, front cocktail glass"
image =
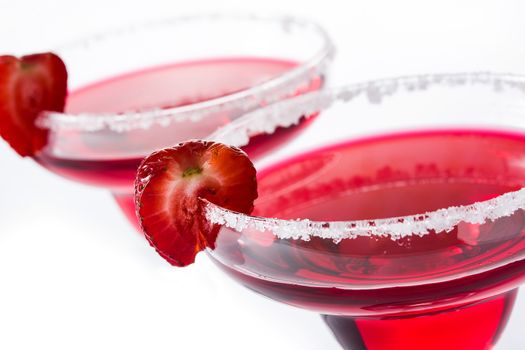
{"type": "MultiPolygon", "coordinates": [[[[524,159],[523,136],[474,130],[341,144],[262,171],[255,215],[358,220],[472,204],[524,186],[524,159]]],[[[223,228],[214,256],[248,288],[328,315],[346,348],[488,349],[525,279],[525,212],[398,241],[223,228]]]]}

